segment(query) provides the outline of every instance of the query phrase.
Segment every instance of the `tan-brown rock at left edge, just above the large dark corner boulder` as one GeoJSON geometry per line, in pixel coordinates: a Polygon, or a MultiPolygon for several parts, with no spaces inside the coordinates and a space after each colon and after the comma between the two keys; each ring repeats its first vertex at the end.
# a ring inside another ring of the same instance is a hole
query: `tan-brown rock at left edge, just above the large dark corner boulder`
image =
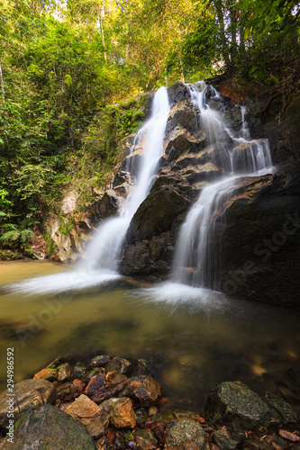
{"type": "MultiPolygon", "coordinates": [[[[7,420],[7,395],[5,391],[0,396],[0,423],[7,420]]],[[[55,386],[47,380],[23,380],[14,384],[14,414],[23,413],[32,406],[51,403],[55,399],[55,386]]]]}

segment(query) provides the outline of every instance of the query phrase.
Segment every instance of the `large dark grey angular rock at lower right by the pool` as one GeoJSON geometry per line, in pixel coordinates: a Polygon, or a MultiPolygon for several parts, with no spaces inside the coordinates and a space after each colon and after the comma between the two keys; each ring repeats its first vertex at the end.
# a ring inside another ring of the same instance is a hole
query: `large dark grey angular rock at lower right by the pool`
{"type": "Polygon", "coordinates": [[[210,393],[205,405],[205,419],[214,425],[235,429],[255,429],[278,425],[280,418],[268,408],[256,392],[238,382],[225,382],[210,393]]]}

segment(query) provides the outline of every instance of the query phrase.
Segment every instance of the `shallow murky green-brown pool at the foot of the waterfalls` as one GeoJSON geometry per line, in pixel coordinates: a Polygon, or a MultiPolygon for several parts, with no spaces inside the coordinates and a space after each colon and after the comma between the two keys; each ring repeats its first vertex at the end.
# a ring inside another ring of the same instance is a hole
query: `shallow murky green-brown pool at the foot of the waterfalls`
{"type": "Polygon", "coordinates": [[[293,401],[285,374],[300,370],[299,311],[117,276],[50,293],[56,280],[76,283],[72,271],[48,261],[0,263],[2,389],[6,348],[14,347],[15,383],[57,356],[108,354],[150,360],[168,407],[203,410],[208,392],[236,380],[293,401]],[[51,274],[34,282],[40,293],[7,289],[51,274]]]}

